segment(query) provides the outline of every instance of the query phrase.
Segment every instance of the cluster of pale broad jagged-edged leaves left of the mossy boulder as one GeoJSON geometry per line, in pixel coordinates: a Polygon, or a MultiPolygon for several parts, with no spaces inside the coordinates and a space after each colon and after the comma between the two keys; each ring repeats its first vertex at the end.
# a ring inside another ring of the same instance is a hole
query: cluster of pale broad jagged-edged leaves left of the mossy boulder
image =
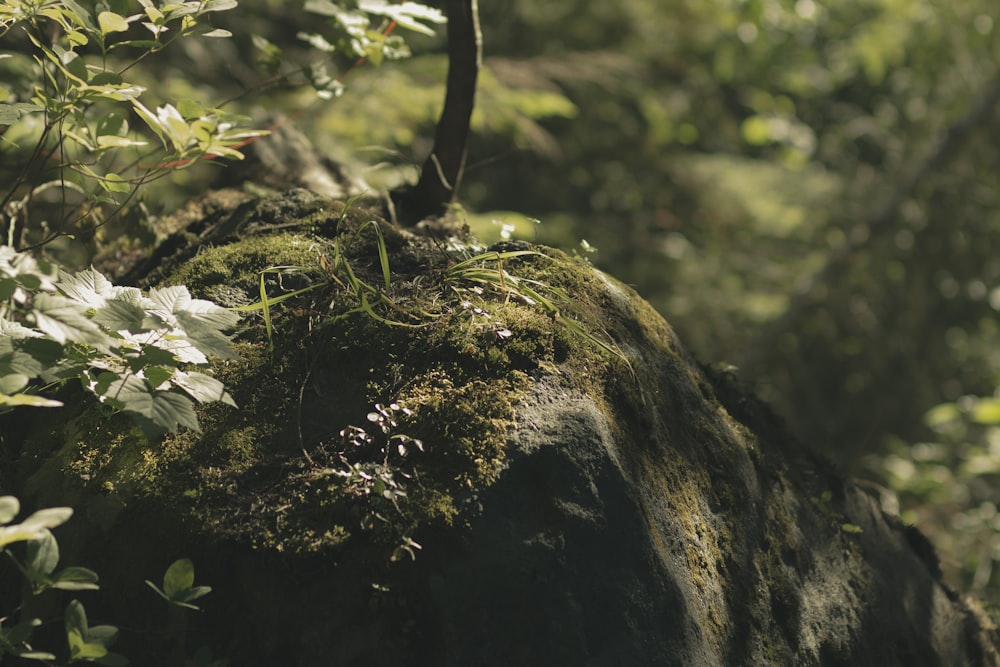
{"type": "Polygon", "coordinates": [[[238,316],[185,287],[116,287],[93,269],[59,274],[2,246],[0,297],[0,408],[58,406],[38,391],[70,379],[150,434],[197,430],[195,403],[235,406],[191,368],[233,356],[223,331],[238,316]]]}

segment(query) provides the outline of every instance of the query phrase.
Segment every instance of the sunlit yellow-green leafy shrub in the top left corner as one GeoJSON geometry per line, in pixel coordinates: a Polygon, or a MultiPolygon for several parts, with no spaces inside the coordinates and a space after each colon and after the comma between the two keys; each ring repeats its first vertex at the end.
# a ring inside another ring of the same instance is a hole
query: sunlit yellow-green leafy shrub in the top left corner
{"type": "Polygon", "coordinates": [[[14,0],[0,7],[0,39],[14,48],[5,54],[13,85],[0,88],[0,124],[8,126],[6,152],[26,155],[11,161],[16,172],[0,193],[7,245],[45,244],[84,223],[99,226],[138,187],[196,158],[241,157],[235,146],[261,133],[239,129],[240,117],[191,99],[153,112],[140,99],[144,87],[126,78],[178,40],[228,37],[207,18],[236,4],[14,0]],[[131,126],[134,117],[141,129],[131,126]],[[146,149],[150,136],[159,150],[146,149]],[[45,202],[49,191],[55,198],[45,202]]]}

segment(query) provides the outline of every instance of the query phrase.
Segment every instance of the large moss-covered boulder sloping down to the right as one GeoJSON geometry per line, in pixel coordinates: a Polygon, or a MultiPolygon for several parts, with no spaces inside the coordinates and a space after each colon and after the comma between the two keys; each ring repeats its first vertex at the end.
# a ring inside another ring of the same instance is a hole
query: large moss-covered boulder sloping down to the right
{"type": "Polygon", "coordinates": [[[164,259],[233,303],[271,264],[312,267],[273,354],[250,320],[217,365],[239,411],[150,442],[79,402],[10,441],[23,497],[78,508],[60,543],[102,573],[88,611],[154,619],[123,632],[133,664],[171,664],[140,582],[185,556],[215,590],[180,645],[240,667],[1000,662],[919,533],[629,288],[551,249],[461,264],[483,251],[307,208],[164,259]]]}

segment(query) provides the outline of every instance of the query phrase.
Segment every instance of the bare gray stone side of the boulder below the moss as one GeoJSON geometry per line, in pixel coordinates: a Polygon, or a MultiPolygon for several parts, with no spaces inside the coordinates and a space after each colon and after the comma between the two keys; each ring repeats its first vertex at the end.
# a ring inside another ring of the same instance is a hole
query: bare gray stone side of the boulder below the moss
{"type": "MultiPolygon", "coordinates": [[[[467,541],[422,566],[424,664],[996,664],[980,616],[857,487],[822,479],[824,500],[749,456],[717,460],[707,486],[636,467],[622,450],[668,434],[616,440],[597,402],[556,378],[519,416],[467,541]]],[[[700,446],[715,458],[717,442],[700,446]]]]}

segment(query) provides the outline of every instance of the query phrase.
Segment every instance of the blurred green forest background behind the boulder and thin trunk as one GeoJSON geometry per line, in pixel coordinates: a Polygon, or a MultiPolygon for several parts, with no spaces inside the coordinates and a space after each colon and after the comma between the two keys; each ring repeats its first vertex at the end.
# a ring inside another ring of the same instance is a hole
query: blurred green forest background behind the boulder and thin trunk
{"type": "MultiPolygon", "coordinates": [[[[480,11],[460,214],[484,237],[586,239],[702,360],[737,367],[923,529],[956,586],[1000,601],[995,0],[480,11]]],[[[298,3],[242,0],[217,22],[233,39],[142,63],[151,92],[291,116],[373,189],[415,178],[443,31],[408,36],[414,57],[380,67],[335,53],[346,89],[320,99],[275,76],[324,55],[296,38],[319,30],[298,3]]],[[[142,207],[168,211],[224,168],[187,170],[142,207]]]]}

